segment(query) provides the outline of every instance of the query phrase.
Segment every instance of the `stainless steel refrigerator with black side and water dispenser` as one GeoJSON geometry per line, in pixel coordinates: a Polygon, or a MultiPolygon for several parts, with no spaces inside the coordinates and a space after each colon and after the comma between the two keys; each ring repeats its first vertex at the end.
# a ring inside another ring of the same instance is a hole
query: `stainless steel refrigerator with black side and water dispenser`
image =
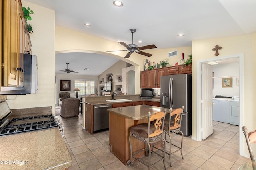
{"type": "MultiPolygon", "coordinates": [[[[186,136],[192,135],[191,79],[191,74],[161,76],[161,107],[176,109],[184,106],[181,131],[186,136]]],[[[166,119],[169,119],[169,114],[166,119]]]]}

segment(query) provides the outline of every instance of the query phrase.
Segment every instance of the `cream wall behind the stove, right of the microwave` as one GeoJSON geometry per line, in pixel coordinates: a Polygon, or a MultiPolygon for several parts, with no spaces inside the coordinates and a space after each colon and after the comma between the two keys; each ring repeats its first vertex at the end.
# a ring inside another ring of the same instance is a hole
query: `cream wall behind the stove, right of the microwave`
{"type": "Polygon", "coordinates": [[[22,0],[22,6],[34,11],[29,23],[34,33],[30,35],[32,54],[37,56],[38,91],[36,94],[8,95],[10,109],[52,106],[55,113],[55,12],[22,0]]]}

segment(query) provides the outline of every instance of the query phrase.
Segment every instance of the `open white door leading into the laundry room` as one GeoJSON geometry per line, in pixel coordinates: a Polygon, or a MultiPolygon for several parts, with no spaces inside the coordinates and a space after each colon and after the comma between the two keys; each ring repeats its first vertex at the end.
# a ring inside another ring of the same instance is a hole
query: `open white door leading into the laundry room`
{"type": "Polygon", "coordinates": [[[213,133],[212,67],[202,63],[202,139],[213,133]]]}

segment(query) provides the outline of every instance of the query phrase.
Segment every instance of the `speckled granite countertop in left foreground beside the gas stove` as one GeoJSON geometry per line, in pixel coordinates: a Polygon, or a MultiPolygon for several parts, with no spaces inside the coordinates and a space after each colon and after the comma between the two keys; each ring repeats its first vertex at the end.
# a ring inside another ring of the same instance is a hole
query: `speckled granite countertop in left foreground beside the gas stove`
{"type": "Polygon", "coordinates": [[[72,158],[58,127],[0,137],[0,169],[64,169],[72,158]]]}

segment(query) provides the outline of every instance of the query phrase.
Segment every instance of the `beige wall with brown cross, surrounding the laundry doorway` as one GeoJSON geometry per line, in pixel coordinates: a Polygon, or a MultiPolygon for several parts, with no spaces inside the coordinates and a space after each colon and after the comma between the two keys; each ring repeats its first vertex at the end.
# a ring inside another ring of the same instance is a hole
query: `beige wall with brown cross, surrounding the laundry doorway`
{"type": "MultiPolygon", "coordinates": [[[[198,60],[203,59],[216,59],[218,57],[224,57],[228,55],[235,55],[239,53],[244,54],[244,75],[240,75],[244,78],[244,110],[243,119],[244,122],[240,125],[240,129],[243,125],[247,126],[248,129],[256,129],[256,112],[254,109],[255,101],[255,83],[256,77],[255,72],[256,68],[256,33],[250,35],[242,36],[232,36],[232,37],[221,37],[213,39],[203,39],[192,41],[192,72],[196,73],[196,63],[198,60]],[[220,55],[216,57],[215,52],[212,51],[215,45],[219,45],[222,49],[219,51],[220,55]]],[[[192,76],[192,137],[196,138],[196,87],[199,86],[196,84],[196,74],[192,76]]],[[[241,114],[241,113],[240,113],[241,114]]],[[[246,144],[243,145],[244,151],[248,152],[246,149],[246,144]]],[[[244,153],[241,153],[244,154],[244,153]]]]}

